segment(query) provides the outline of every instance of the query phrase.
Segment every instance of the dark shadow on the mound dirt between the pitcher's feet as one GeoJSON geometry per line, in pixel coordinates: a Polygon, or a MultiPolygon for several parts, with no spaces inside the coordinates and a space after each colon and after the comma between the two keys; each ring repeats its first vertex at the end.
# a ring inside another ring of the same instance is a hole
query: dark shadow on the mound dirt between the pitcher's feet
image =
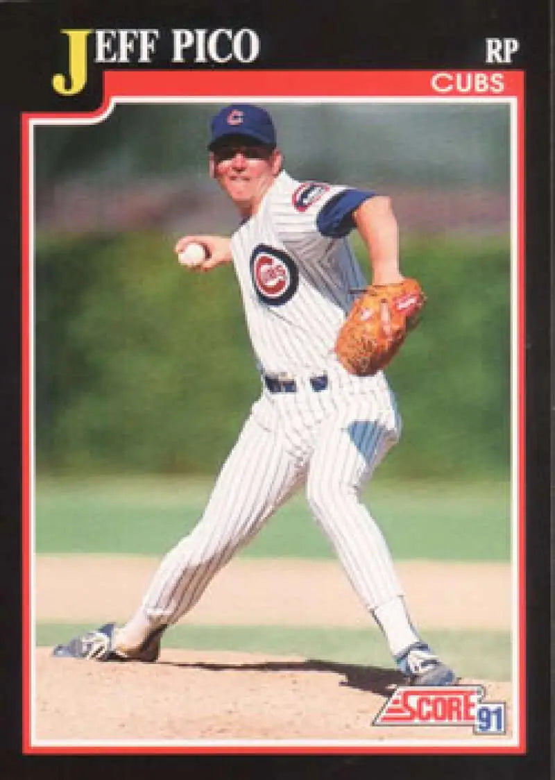
{"type": "Polygon", "coordinates": [[[396,672],[394,669],[359,664],[340,664],[336,661],[320,661],[317,658],[307,658],[306,661],[263,661],[253,664],[158,661],[158,664],[163,665],[164,663],[181,668],[205,669],[208,672],[298,672],[299,674],[302,672],[333,672],[344,678],[339,682],[341,686],[371,691],[384,697],[389,696],[395,686],[405,682],[401,672],[396,672]]]}

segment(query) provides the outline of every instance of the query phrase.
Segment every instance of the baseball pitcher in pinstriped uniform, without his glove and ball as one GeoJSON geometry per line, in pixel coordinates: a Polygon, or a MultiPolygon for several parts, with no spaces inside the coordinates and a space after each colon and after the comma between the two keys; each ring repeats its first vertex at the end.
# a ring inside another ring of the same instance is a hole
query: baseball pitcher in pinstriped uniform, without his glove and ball
{"type": "Polygon", "coordinates": [[[156,661],[164,630],[189,612],[219,569],[304,484],[362,604],[384,632],[398,669],[418,685],[450,685],[454,672],[422,640],[362,485],[398,441],[401,420],[384,374],[355,376],[334,352],[341,324],[366,281],[347,241],[357,229],[373,282],[403,279],[398,225],[387,197],[300,182],[282,167],[270,115],[228,105],[211,122],[210,176],[239,209],[231,239],[201,244],[195,268],[233,263],[261,394],[225,461],[203,516],[162,559],[124,626],[108,623],[55,647],[58,657],[156,661]]]}

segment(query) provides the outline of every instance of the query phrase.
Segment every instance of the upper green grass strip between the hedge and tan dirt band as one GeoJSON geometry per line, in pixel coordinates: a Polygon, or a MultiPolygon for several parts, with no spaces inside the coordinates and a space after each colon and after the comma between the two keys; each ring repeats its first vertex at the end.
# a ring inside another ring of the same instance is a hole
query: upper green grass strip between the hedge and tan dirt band
{"type": "MultiPolygon", "coordinates": [[[[37,553],[162,555],[193,527],[211,480],[129,477],[37,480],[37,553]]],[[[504,481],[373,480],[364,502],[394,558],[508,561],[510,486],[504,481]]],[[[241,555],[328,558],[333,551],[302,494],[270,518],[241,555]]]]}

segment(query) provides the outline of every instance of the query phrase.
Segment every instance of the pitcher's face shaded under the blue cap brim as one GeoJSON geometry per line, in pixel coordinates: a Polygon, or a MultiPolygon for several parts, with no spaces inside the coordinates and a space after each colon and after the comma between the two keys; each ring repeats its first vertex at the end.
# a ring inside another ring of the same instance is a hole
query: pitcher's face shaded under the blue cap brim
{"type": "Polygon", "coordinates": [[[256,214],[260,201],[281,168],[281,152],[246,140],[221,144],[210,154],[216,179],[243,216],[256,214]]]}

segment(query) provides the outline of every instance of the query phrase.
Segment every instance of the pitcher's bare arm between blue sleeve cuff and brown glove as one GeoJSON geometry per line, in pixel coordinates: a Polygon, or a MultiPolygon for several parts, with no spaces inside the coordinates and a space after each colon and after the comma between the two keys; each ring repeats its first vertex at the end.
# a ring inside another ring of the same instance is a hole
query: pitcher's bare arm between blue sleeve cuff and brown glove
{"type": "Polygon", "coordinates": [[[363,200],[352,220],[368,250],[375,285],[402,282],[399,271],[399,229],[391,199],[384,195],[363,200]]]}

